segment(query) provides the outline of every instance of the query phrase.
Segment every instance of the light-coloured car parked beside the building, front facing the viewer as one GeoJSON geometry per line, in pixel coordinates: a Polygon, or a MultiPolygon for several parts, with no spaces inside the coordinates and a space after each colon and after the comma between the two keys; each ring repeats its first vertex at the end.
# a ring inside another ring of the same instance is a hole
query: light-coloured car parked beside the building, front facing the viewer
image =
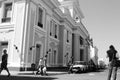
{"type": "Polygon", "coordinates": [[[71,66],[71,72],[85,72],[88,69],[88,65],[85,61],[75,61],[71,66]]]}

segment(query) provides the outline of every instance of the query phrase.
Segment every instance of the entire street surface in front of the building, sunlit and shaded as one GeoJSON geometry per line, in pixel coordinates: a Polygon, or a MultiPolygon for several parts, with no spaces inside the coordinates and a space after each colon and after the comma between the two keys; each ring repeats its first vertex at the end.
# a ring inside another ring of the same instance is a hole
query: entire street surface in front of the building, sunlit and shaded
{"type": "MultiPolygon", "coordinates": [[[[0,75],[0,80],[107,80],[108,70],[79,74],[48,72],[48,76],[33,75],[30,72],[11,74],[12,75],[10,77],[7,77],[6,73],[0,75]]],[[[120,80],[120,70],[118,70],[117,80],[120,80]]]]}

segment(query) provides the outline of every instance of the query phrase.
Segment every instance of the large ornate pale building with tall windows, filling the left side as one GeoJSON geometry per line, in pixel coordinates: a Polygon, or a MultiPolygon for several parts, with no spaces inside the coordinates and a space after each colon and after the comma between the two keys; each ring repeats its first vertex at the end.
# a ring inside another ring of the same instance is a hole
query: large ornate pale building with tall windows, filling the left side
{"type": "Polygon", "coordinates": [[[48,67],[88,61],[89,36],[78,0],[0,0],[0,61],[8,51],[8,67],[29,68],[46,58],[48,67]]]}

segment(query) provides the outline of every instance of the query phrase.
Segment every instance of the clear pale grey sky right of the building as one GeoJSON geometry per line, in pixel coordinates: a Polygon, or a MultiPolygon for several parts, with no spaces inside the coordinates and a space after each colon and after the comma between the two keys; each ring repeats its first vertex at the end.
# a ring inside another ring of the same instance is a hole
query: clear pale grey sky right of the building
{"type": "Polygon", "coordinates": [[[120,0],[79,2],[84,15],[82,22],[99,50],[99,59],[108,62],[106,51],[110,45],[114,45],[120,55],[120,0]]]}

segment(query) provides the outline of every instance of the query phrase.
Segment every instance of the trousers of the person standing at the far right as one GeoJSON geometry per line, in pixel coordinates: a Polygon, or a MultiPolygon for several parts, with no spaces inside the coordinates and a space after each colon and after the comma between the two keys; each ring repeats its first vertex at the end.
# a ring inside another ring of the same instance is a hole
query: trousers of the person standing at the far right
{"type": "Polygon", "coordinates": [[[109,71],[108,71],[108,79],[111,80],[111,76],[113,75],[113,80],[116,80],[117,77],[117,67],[113,67],[112,63],[109,63],[109,71]],[[113,73],[113,74],[112,74],[113,73]]]}

